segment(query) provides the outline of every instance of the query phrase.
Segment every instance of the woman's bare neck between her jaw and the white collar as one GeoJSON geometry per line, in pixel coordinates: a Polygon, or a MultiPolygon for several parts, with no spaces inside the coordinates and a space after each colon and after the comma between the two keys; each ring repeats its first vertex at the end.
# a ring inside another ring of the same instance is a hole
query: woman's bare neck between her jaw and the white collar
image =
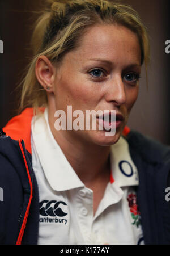
{"type": "Polygon", "coordinates": [[[74,131],[56,131],[53,124],[53,119],[49,116],[49,125],[54,139],[80,180],[89,185],[88,187],[103,179],[109,181],[111,146],[99,146],[82,141],[74,135],[74,131]]]}

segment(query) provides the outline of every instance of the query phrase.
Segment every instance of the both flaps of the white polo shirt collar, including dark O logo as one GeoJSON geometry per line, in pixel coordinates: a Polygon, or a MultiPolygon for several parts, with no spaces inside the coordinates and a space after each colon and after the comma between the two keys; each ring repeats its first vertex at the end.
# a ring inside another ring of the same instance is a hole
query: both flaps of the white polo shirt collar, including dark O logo
{"type": "MultiPolygon", "coordinates": [[[[65,191],[84,187],[83,182],[80,181],[52,135],[47,108],[44,114],[33,117],[31,132],[42,169],[53,190],[65,191]]],[[[138,171],[131,160],[128,142],[120,137],[120,140],[112,145],[111,149],[114,186],[138,185],[138,171]]]]}

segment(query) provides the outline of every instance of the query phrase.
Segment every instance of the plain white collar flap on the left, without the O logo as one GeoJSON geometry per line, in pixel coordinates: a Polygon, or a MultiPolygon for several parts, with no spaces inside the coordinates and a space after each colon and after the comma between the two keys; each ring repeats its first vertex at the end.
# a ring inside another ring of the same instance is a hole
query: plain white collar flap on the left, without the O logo
{"type": "Polygon", "coordinates": [[[41,116],[33,117],[32,139],[46,179],[53,190],[84,187],[52,135],[47,108],[41,116]]]}

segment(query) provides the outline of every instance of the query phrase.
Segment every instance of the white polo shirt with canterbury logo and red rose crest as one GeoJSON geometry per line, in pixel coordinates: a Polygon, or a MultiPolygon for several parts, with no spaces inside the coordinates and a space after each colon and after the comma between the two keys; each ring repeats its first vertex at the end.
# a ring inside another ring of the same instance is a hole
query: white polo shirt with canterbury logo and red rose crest
{"type": "Polygon", "coordinates": [[[137,167],[126,140],[111,150],[111,181],[94,216],[93,191],[84,186],[54,139],[48,111],[33,117],[32,166],[40,195],[38,244],[143,244],[133,186],[137,167]]]}

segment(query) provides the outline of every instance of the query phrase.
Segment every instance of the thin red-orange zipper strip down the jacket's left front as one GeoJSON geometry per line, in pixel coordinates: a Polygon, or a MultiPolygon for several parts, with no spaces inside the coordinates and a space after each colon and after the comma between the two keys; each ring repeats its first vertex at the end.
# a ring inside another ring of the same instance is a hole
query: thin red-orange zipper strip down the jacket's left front
{"type": "Polygon", "coordinates": [[[29,202],[28,202],[28,205],[27,205],[27,210],[25,212],[25,216],[24,216],[24,220],[23,220],[23,223],[22,223],[22,227],[20,228],[19,236],[18,236],[18,239],[16,241],[16,245],[21,245],[23,234],[24,234],[24,229],[25,229],[25,226],[26,226],[26,223],[27,223],[28,214],[29,214],[29,208],[30,208],[31,200],[32,200],[32,181],[31,181],[31,175],[29,173],[27,160],[25,158],[25,154],[24,154],[24,150],[23,150],[23,146],[22,146],[22,140],[19,140],[18,142],[19,142],[20,150],[22,152],[23,159],[24,159],[25,168],[27,170],[27,175],[28,175],[29,185],[30,185],[30,190],[31,190],[30,196],[29,196],[29,202]]]}

